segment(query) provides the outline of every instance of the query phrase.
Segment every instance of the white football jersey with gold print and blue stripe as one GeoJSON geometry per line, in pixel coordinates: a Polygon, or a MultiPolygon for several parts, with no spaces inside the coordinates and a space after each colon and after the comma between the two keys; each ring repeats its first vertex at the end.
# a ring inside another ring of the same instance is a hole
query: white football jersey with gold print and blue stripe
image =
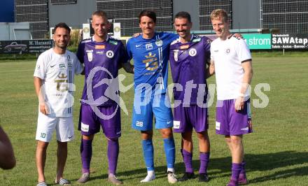
{"type": "Polygon", "coordinates": [[[34,76],[43,80],[42,88],[45,103],[51,116],[70,117],[73,113],[74,74],[83,71],[73,52],[66,50],[64,55],[58,55],[46,50],[37,59],[34,76]]]}

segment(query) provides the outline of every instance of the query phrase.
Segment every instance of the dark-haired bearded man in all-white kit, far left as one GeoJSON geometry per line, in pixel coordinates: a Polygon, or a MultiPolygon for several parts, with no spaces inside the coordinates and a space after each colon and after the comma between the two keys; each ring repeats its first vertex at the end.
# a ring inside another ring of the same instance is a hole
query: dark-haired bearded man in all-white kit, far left
{"type": "Polygon", "coordinates": [[[57,175],[55,183],[70,184],[63,178],[67,157],[67,141],[73,134],[73,79],[74,74],[83,71],[73,52],[66,50],[71,29],[63,22],[55,26],[53,41],[55,47],[43,52],[36,62],[34,87],[39,101],[38,123],[36,130],[36,167],[39,186],[46,185],[44,166],[46,150],[52,132],[57,134],[57,175]]]}

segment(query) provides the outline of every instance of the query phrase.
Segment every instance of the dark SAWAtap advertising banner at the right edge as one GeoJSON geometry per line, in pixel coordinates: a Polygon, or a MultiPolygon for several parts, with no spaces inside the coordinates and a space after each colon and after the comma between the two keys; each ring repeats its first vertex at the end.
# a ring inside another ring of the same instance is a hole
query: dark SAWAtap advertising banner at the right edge
{"type": "Polygon", "coordinates": [[[307,49],[308,34],[272,34],[272,49],[307,49]]]}

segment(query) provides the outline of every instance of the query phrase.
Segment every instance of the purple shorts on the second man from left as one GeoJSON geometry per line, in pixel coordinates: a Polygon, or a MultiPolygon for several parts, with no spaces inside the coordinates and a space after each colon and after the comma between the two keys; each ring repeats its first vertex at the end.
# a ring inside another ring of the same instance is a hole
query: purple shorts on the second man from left
{"type": "Polygon", "coordinates": [[[100,113],[113,117],[104,120],[104,117],[99,117],[91,108],[91,106],[83,105],[80,106],[79,124],[78,130],[81,134],[89,136],[99,132],[99,127],[102,126],[103,132],[107,138],[118,138],[121,136],[121,117],[120,107],[117,105],[113,106],[97,106],[97,111],[100,113]],[[117,110],[118,109],[118,110],[117,110]]]}

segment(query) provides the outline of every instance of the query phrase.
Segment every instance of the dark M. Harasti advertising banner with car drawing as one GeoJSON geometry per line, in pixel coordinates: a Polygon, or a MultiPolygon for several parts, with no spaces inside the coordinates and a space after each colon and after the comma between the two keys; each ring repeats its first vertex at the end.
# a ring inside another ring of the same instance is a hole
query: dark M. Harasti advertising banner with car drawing
{"type": "Polygon", "coordinates": [[[52,48],[52,40],[0,41],[0,54],[41,53],[52,48]]]}

